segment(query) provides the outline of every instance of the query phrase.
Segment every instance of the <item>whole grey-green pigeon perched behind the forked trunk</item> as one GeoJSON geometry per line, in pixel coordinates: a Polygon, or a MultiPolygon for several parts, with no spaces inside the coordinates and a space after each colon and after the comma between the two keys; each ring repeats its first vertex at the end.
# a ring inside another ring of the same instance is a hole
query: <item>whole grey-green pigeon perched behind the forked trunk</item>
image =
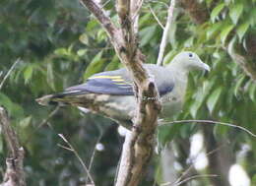
{"type": "MultiPolygon", "coordinates": [[[[160,118],[170,118],[180,111],[191,70],[210,70],[197,54],[183,51],[165,67],[144,64],[160,93],[160,118]]],[[[44,95],[36,101],[42,105],[74,105],[109,117],[126,128],[132,127],[136,98],[132,80],[125,68],[95,74],[86,83],[66,89],[63,93],[44,95]]]]}

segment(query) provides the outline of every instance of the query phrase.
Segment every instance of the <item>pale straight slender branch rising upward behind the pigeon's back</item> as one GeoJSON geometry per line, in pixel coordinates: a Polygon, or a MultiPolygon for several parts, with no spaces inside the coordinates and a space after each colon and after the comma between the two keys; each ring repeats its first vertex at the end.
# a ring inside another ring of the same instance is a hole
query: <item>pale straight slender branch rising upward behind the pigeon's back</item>
{"type": "Polygon", "coordinates": [[[162,64],[162,59],[163,59],[163,54],[164,54],[164,50],[165,50],[166,43],[167,43],[168,33],[169,33],[170,26],[172,23],[174,7],[175,7],[175,0],[170,0],[170,5],[168,8],[168,17],[167,17],[166,25],[163,30],[163,34],[162,34],[161,41],[160,41],[160,52],[159,52],[159,57],[158,57],[158,62],[157,62],[157,65],[159,65],[159,66],[162,64]]]}

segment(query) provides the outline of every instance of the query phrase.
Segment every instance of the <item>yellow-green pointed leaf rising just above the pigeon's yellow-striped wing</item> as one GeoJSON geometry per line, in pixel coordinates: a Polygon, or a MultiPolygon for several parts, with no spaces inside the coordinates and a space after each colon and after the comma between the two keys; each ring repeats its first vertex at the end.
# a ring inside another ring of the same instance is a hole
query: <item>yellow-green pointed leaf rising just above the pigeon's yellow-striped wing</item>
{"type": "Polygon", "coordinates": [[[100,70],[102,70],[102,66],[104,63],[104,59],[101,58],[102,56],[102,51],[98,52],[95,56],[95,58],[91,61],[89,66],[86,69],[86,72],[84,74],[84,79],[88,79],[90,76],[96,74],[100,70]]]}

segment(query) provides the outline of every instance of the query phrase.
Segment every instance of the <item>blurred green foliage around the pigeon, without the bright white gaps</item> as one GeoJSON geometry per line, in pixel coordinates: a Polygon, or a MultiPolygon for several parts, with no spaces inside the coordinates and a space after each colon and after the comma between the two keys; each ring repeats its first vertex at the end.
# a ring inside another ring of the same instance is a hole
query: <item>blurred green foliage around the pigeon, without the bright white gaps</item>
{"type": "MultiPolygon", "coordinates": [[[[208,75],[193,73],[190,76],[183,112],[174,118],[224,121],[256,133],[256,84],[227,51],[228,47],[229,53],[243,54],[246,63],[252,61],[247,51],[248,39],[256,31],[256,2],[200,2],[209,11],[210,18],[197,25],[185,11],[176,11],[163,64],[169,63],[179,51],[193,50],[212,71],[208,75]]],[[[157,61],[162,34],[149,6],[164,25],[168,3],[146,1],[141,12],[138,39],[148,63],[157,61]]],[[[104,8],[118,25],[114,2],[107,2],[104,8]]],[[[92,172],[97,185],[112,185],[122,141],[113,122],[93,114],[81,116],[77,109],[65,107],[39,126],[53,107],[41,107],[34,101],[42,94],[61,92],[63,88],[82,83],[97,72],[121,67],[104,30],[79,1],[69,0],[3,0],[0,23],[0,72],[6,74],[18,57],[23,60],[1,90],[0,104],[7,108],[26,149],[29,185],[82,184],[79,182],[83,182],[85,172],[75,155],[57,146],[65,146],[57,136],[59,133],[74,144],[87,164],[98,136],[103,133],[100,142],[105,150],[96,152],[92,172]],[[109,160],[109,157],[112,158],[109,160]]],[[[161,126],[158,129],[160,148],[173,139],[188,139],[199,130],[197,124],[191,123],[161,126]]],[[[235,146],[249,144],[254,154],[248,161],[255,161],[255,140],[247,134],[219,125],[214,127],[214,134],[216,139],[230,138],[235,146]]],[[[0,135],[1,156],[6,155],[5,150],[0,135]]],[[[238,151],[233,148],[233,152],[238,151]]],[[[255,168],[248,169],[252,178],[255,168]]],[[[153,185],[152,179],[144,185],[153,185]]]]}

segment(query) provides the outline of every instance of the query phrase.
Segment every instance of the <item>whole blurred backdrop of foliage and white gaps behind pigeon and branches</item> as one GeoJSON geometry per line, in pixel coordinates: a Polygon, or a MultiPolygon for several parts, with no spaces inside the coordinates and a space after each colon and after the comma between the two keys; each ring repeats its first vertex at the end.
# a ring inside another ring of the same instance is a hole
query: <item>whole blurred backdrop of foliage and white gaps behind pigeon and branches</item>
{"type": "MultiPolygon", "coordinates": [[[[117,24],[113,0],[98,1],[117,24]]],[[[140,47],[156,63],[169,1],[145,1],[140,47]]],[[[211,66],[190,75],[183,111],[174,120],[228,122],[256,133],[256,1],[180,0],[168,35],[164,64],[182,50],[195,51],[211,66]]],[[[106,33],[77,0],[1,0],[0,81],[20,58],[0,92],[26,150],[28,185],[113,185],[123,129],[74,107],[43,107],[34,99],[83,83],[91,75],[122,67],[106,33]],[[91,165],[90,165],[91,164],[91,165]]],[[[160,126],[157,148],[142,186],[255,186],[256,138],[209,123],[160,126]],[[218,175],[218,176],[216,176],[218,175]],[[183,181],[183,182],[181,182],[183,181]]],[[[0,170],[6,144],[0,135],[0,170]]]]}

